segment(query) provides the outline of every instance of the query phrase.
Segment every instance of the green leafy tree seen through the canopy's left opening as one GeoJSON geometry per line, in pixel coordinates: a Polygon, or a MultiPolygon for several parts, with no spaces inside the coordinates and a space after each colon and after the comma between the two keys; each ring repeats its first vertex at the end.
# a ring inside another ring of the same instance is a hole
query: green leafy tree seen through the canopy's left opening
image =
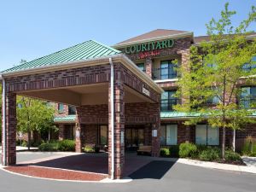
{"type": "Polygon", "coordinates": [[[17,106],[17,130],[27,133],[27,146],[30,149],[32,131],[55,129],[53,124],[55,109],[47,102],[25,96],[18,96],[17,106]]]}

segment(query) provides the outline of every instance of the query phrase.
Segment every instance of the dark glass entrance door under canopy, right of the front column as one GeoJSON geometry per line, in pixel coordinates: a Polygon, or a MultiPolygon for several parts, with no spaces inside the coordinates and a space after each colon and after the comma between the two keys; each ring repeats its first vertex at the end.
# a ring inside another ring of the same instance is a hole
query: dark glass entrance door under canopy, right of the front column
{"type": "Polygon", "coordinates": [[[127,150],[136,150],[139,145],[144,144],[143,128],[125,129],[125,148],[127,150]]]}

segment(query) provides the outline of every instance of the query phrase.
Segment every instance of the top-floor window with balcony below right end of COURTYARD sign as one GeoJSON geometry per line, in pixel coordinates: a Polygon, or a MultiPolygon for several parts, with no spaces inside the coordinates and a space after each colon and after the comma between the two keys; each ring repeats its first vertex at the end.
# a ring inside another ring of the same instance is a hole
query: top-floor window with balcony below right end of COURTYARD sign
{"type": "Polygon", "coordinates": [[[177,78],[177,71],[172,60],[160,62],[160,79],[174,79],[177,78]]]}

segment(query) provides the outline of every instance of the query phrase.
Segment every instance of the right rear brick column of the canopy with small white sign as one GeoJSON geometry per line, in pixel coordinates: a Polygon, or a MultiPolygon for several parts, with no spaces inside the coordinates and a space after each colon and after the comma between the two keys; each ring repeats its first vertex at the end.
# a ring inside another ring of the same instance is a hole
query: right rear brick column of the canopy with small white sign
{"type": "Polygon", "coordinates": [[[156,107],[156,122],[152,125],[152,156],[160,156],[160,104],[156,107]]]}

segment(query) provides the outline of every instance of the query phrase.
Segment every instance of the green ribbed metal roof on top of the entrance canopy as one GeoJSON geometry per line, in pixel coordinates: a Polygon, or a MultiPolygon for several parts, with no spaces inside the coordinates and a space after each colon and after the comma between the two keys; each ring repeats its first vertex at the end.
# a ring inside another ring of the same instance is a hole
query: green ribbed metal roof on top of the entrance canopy
{"type": "Polygon", "coordinates": [[[18,72],[20,70],[26,70],[36,67],[50,66],[54,64],[61,64],[70,61],[82,61],[88,59],[95,59],[98,57],[116,55],[120,51],[113,49],[107,45],[98,43],[94,40],[85,41],[82,44],[76,44],[70,48],[59,50],[53,54],[46,55],[35,59],[33,61],[28,61],[26,63],[20,64],[18,66],[9,68],[2,73],[8,72],[18,72]]]}

